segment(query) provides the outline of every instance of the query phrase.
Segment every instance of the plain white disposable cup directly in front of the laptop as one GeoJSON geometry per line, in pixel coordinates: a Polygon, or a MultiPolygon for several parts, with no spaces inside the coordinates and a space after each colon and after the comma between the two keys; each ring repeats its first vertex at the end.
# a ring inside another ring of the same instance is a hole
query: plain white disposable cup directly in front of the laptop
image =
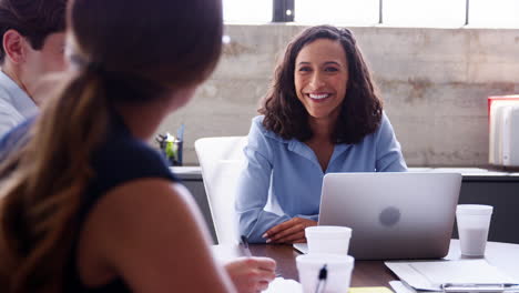
{"type": "Polygon", "coordinates": [[[352,229],[316,225],[305,229],[308,253],[348,254],[352,229]]]}

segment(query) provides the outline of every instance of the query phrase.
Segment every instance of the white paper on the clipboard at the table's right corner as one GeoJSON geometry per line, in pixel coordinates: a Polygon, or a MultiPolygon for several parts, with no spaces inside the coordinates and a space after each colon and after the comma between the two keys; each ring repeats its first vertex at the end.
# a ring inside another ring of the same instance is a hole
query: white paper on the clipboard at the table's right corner
{"type": "Polygon", "coordinates": [[[513,283],[486,260],[385,262],[398,277],[418,290],[439,290],[445,283],[513,283]]]}

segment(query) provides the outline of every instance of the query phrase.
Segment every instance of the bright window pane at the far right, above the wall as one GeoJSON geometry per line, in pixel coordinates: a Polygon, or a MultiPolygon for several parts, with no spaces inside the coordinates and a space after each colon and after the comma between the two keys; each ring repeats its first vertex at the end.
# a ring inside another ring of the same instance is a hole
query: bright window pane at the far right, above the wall
{"type": "Polygon", "coordinates": [[[470,0],[469,26],[519,28],[519,0],[470,0]]]}

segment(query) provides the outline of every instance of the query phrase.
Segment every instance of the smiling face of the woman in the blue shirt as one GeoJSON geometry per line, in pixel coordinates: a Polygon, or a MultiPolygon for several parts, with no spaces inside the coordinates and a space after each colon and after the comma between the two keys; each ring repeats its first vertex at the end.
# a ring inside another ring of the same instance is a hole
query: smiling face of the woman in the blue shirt
{"type": "Polygon", "coordinates": [[[348,83],[348,63],[340,42],[317,39],[303,47],[295,60],[294,83],[311,119],[334,123],[348,83]]]}

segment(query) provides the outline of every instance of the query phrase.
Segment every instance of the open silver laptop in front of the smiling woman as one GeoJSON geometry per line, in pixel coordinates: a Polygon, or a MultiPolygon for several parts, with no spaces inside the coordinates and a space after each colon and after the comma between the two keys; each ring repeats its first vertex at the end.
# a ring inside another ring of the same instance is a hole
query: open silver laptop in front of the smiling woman
{"type": "Polygon", "coordinates": [[[356,260],[444,257],[460,186],[459,173],[328,173],[318,224],[352,228],[356,260]]]}

